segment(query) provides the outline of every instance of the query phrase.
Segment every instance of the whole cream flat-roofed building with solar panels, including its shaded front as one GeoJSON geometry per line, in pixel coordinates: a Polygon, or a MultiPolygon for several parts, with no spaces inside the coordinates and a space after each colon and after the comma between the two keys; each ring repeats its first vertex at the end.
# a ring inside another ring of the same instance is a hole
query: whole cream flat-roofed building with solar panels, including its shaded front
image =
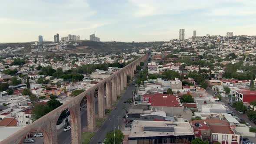
{"type": "Polygon", "coordinates": [[[189,144],[192,139],[189,122],[178,121],[133,121],[128,135],[129,144],[189,144]]]}

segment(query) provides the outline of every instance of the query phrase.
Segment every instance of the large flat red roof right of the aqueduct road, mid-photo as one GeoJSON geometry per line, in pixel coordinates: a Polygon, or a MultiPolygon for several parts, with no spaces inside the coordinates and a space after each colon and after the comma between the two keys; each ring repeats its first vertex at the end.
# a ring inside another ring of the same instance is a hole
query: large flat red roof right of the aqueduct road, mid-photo
{"type": "Polygon", "coordinates": [[[177,97],[167,94],[144,94],[144,97],[151,97],[151,106],[181,107],[177,97]]]}

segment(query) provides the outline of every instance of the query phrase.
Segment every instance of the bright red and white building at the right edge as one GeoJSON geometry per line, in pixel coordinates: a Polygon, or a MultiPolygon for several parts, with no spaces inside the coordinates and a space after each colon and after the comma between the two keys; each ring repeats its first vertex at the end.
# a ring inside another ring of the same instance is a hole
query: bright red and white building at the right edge
{"type": "Polygon", "coordinates": [[[250,102],[256,100],[256,91],[236,91],[236,101],[250,102]]]}

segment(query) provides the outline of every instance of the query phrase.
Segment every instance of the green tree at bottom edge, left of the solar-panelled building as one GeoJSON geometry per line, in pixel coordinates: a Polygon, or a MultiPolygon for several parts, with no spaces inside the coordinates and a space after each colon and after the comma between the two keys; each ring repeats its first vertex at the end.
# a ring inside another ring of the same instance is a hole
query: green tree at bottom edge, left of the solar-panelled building
{"type": "Polygon", "coordinates": [[[104,144],[114,144],[114,139],[116,144],[121,144],[124,137],[124,134],[120,130],[115,130],[115,138],[114,131],[108,131],[105,137],[104,144]]]}

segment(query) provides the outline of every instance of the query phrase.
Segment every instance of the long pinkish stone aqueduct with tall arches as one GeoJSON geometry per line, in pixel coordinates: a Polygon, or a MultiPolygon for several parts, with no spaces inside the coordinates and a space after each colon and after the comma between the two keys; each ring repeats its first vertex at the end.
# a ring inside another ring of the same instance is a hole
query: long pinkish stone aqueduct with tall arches
{"type": "Polygon", "coordinates": [[[76,96],[72,101],[61,105],[55,110],[49,112],[47,115],[44,115],[42,118],[34,121],[32,124],[29,124],[20,131],[17,131],[7,137],[1,141],[0,144],[21,144],[23,142],[23,138],[35,129],[43,132],[44,144],[58,144],[56,123],[59,115],[66,109],[69,109],[70,111],[71,142],[72,144],[82,144],[80,114],[80,102],[82,99],[84,97],[87,98],[87,128],[89,131],[95,131],[95,90],[98,89],[98,117],[104,118],[105,108],[110,108],[112,101],[116,101],[117,96],[120,95],[121,91],[126,87],[127,75],[130,75],[131,78],[133,78],[136,66],[139,65],[140,62],[146,62],[148,56],[148,53],[146,53],[144,56],[141,56],[126,65],[118,72],[115,72],[113,75],[110,75],[108,78],[76,96]],[[106,105],[104,96],[106,96],[106,105]]]}

